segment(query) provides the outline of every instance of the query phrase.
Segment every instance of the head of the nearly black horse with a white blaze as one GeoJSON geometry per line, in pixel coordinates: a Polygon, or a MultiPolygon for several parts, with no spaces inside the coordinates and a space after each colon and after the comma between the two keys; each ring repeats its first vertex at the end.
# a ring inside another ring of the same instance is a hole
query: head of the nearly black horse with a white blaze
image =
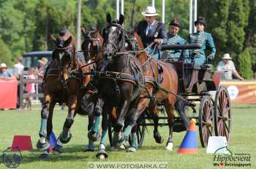
{"type": "Polygon", "coordinates": [[[103,29],[102,36],[104,39],[103,56],[105,59],[112,58],[116,52],[124,50],[124,15],[120,15],[119,20],[111,20],[110,14],[107,15],[108,25],[103,29]]]}

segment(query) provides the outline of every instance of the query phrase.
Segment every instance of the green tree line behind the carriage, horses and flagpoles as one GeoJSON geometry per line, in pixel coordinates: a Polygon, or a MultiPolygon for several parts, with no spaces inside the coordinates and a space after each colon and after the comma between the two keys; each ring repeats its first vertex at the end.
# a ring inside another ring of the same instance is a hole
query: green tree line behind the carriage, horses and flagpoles
{"type": "MultiPolygon", "coordinates": [[[[162,20],[161,3],[155,1],[159,20],[162,20]]],[[[134,28],[143,20],[140,12],[150,5],[151,0],[125,0],[124,28],[134,28]]],[[[57,34],[62,26],[75,35],[77,9],[76,0],[0,0],[0,62],[10,65],[24,52],[52,50],[49,36],[57,34]]],[[[206,17],[206,31],[214,36],[217,47],[214,64],[223,53],[229,52],[241,75],[252,78],[256,71],[256,1],[198,0],[197,11],[206,17]]],[[[103,28],[108,12],[116,17],[116,0],[83,0],[81,23],[84,26],[94,23],[103,28]]],[[[181,22],[180,35],[187,39],[189,0],[165,0],[167,29],[174,17],[181,22]]]]}

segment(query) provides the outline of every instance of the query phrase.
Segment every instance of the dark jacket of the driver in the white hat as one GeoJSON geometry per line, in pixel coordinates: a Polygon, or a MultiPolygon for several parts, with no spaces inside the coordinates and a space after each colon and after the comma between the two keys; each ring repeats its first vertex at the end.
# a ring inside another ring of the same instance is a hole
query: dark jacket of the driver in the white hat
{"type": "Polygon", "coordinates": [[[140,21],[138,26],[135,28],[135,31],[140,36],[141,41],[143,42],[143,46],[147,47],[148,44],[151,44],[154,39],[162,39],[163,44],[167,43],[167,33],[165,31],[165,23],[160,23],[156,20],[152,27],[152,31],[148,36],[146,36],[146,28],[148,23],[146,20],[140,21]]]}

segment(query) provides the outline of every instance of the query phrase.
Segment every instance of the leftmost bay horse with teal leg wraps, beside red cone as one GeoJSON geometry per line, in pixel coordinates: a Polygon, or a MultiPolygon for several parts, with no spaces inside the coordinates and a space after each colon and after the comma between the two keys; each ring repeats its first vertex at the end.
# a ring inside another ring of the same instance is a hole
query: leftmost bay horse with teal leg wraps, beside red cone
{"type": "Polygon", "coordinates": [[[59,37],[50,36],[55,49],[52,54],[52,62],[43,84],[44,98],[41,111],[41,125],[39,129],[39,141],[37,149],[44,151],[41,157],[48,157],[49,136],[53,130],[53,109],[56,103],[66,103],[68,106],[67,118],[63,130],[59,135],[53,154],[61,154],[62,145],[67,144],[72,138],[70,128],[74,122],[75,114],[80,111],[80,100],[84,95],[81,87],[88,84],[90,77],[83,78],[83,72],[89,72],[90,68],[83,66],[85,62],[76,56],[75,39],[67,28],[59,31],[59,37]]]}

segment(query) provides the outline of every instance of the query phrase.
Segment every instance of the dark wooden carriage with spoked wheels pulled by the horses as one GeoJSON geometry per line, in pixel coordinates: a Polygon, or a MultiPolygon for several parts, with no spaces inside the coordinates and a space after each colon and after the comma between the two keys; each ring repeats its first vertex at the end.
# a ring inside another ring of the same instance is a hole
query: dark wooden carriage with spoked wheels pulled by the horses
{"type": "MultiPolygon", "coordinates": [[[[197,45],[163,45],[162,50],[171,49],[192,49],[198,48],[197,45]]],[[[200,143],[203,147],[208,144],[210,136],[225,136],[227,142],[230,141],[231,135],[231,103],[230,97],[225,87],[219,85],[222,73],[213,74],[213,66],[205,64],[203,66],[195,66],[194,63],[184,63],[184,59],[173,60],[165,59],[165,62],[172,63],[176,67],[178,73],[178,85],[181,93],[177,95],[187,102],[185,115],[187,123],[190,119],[196,119],[196,125],[199,128],[200,143]],[[213,75],[212,75],[213,74],[213,75]],[[199,103],[199,108],[196,108],[199,103]],[[198,111],[197,111],[198,110],[198,111]],[[198,112],[198,114],[197,114],[198,112]]],[[[167,115],[162,103],[158,104],[159,126],[166,126],[167,115]]],[[[186,120],[178,116],[174,119],[174,132],[182,132],[187,130],[186,120]]],[[[143,139],[148,126],[153,126],[151,113],[146,109],[137,121],[137,138],[138,146],[142,146],[143,139]]],[[[109,130],[110,144],[112,141],[112,128],[109,130]]],[[[129,139],[130,142],[131,139],[129,139]]]]}

